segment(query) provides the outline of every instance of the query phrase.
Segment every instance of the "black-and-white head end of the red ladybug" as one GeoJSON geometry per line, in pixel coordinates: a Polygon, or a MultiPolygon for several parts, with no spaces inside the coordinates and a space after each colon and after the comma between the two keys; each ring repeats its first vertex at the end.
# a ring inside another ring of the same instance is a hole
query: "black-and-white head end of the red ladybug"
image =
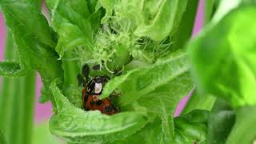
{"type": "Polygon", "coordinates": [[[102,94],[102,87],[110,80],[107,76],[97,76],[90,80],[87,90],[90,94],[102,94]]]}

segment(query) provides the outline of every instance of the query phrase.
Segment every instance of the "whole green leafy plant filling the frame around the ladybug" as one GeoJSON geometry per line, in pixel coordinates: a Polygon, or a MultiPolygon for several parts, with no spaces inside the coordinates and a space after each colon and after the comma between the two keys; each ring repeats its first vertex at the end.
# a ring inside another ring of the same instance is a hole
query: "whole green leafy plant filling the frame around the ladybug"
{"type": "MultiPolygon", "coordinates": [[[[0,0],[18,56],[1,62],[0,74],[38,71],[40,102],[54,108],[50,132],[68,143],[250,143],[256,137],[256,6],[227,2],[206,2],[209,23],[186,45],[198,1],[47,0],[49,25],[40,1],[0,0]],[[82,110],[77,74],[84,64],[90,78],[110,77],[100,98],[117,92],[113,103],[121,112],[82,110]],[[193,89],[198,94],[174,118],[178,102],[193,89]]],[[[11,142],[0,128],[6,137],[0,140],[11,142]]]]}

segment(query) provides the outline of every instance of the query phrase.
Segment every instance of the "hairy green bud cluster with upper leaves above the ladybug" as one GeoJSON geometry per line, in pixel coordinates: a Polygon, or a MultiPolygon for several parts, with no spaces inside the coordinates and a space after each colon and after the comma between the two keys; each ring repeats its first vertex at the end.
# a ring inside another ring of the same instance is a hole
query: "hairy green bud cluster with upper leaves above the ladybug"
{"type": "Polygon", "coordinates": [[[90,5],[81,0],[86,11],[83,12],[64,0],[46,2],[54,30],[59,35],[58,54],[62,56],[65,51],[71,51],[77,55],[74,59],[78,59],[79,65],[99,64],[108,75],[122,69],[132,59],[152,63],[164,58],[170,54],[170,38],[177,43],[173,50],[181,48],[190,38],[198,3],[194,1],[190,7],[186,0],[139,3],[102,0],[90,5]],[[93,11],[89,10],[91,6],[93,11]],[[156,6],[154,10],[152,6],[156,6]],[[106,14],[102,18],[103,8],[106,14]],[[102,25],[99,25],[101,20],[102,25]],[[178,36],[179,33],[184,37],[178,36]]]}

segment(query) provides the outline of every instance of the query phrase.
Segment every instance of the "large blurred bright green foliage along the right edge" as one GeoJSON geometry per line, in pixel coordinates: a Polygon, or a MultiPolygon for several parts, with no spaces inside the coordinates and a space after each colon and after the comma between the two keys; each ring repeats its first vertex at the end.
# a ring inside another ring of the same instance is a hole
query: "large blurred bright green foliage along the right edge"
{"type": "MultiPolygon", "coordinates": [[[[254,14],[251,1],[232,5],[223,1],[210,25],[188,45],[199,97],[218,97],[208,122],[207,143],[255,140],[256,25],[250,18],[254,14]]],[[[190,109],[196,102],[190,102],[190,109]]]]}

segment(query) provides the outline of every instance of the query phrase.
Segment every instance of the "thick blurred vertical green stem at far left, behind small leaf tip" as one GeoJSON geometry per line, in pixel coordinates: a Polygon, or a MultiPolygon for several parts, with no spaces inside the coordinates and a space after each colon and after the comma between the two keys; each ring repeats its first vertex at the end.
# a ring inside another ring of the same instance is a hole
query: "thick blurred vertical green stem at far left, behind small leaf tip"
{"type": "MultiPolygon", "coordinates": [[[[10,31],[6,39],[6,60],[18,61],[10,31]]],[[[0,128],[11,144],[30,144],[34,117],[35,72],[22,78],[3,78],[0,99],[0,128]]]]}

